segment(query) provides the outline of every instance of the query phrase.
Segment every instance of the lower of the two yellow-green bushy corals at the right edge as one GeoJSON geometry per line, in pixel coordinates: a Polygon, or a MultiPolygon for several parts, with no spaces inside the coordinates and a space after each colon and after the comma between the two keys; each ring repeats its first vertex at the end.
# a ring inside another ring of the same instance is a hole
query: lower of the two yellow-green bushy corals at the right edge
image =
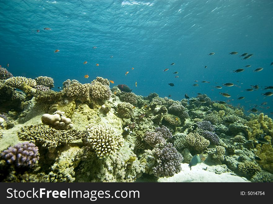
{"type": "Polygon", "coordinates": [[[258,164],[262,166],[264,170],[273,173],[273,147],[271,144],[271,137],[264,137],[269,144],[257,144],[256,146],[256,155],[262,160],[258,161],[258,164]]]}

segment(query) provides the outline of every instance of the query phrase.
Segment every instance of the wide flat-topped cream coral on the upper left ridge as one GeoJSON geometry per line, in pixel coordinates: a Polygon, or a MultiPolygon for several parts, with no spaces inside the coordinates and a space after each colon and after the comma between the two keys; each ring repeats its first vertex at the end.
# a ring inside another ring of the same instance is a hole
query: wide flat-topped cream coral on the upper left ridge
{"type": "Polygon", "coordinates": [[[23,90],[24,85],[34,87],[37,84],[34,79],[26,78],[23,76],[15,76],[5,80],[5,85],[23,90]]]}

